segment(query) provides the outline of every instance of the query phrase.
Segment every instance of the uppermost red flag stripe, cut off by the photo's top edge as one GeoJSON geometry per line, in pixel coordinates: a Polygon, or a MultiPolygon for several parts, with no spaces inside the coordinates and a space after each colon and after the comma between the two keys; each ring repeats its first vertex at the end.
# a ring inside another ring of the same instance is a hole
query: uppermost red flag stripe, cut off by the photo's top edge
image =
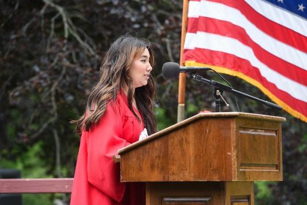
{"type": "Polygon", "coordinates": [[[250,5],[243,0],[208,0],[217,2],[229,7],[238,9],[246,18],[257,28],[267,33],[268,35],[286,43],[294,48],[307,52],[307,38],[283,25],[277,24],[265,16],[259,14],[250,5]]]}

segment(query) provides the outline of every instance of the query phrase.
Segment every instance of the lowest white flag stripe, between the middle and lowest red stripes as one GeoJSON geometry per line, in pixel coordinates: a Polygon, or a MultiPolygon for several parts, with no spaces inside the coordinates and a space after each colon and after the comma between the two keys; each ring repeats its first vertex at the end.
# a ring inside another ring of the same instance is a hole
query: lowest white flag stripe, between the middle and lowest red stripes
{"type": "Polygon", "coordinates": [[[203,48],[233,54],[248,60],[260,74],[279,90],[307,103],[307,87],[270,69],[254,55],[253,50],[237,39],[206,32],[187,33],[184,49],[203,48]],[[235,49],[234,49],[235,48],[235,49]]]}

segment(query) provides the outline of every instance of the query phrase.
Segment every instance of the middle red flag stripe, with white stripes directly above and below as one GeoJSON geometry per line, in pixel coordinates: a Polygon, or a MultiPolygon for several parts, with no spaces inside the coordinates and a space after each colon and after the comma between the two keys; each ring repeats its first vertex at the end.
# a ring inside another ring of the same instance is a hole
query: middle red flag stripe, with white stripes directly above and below
{"type": "Polygon", "coordinates": [[[230,22],[214,18],[201,16],[199,18],[189,18],[187,33],[196,33],[197,31],[235,38],[246,46],[250,47],[253,50],[255,56],[269,68],[294,81],[297,81],[302,85],[307,86],[307,80],[305,79],[305,76],[307,76],[306,70],[297,67],[288,61],[283,60],[262,49],[258,44],[253,42],[253,40],[249,37],[243,28],[233,25],[230,22]],[[218,27],[216,25],[218,25],[218,27]]]}

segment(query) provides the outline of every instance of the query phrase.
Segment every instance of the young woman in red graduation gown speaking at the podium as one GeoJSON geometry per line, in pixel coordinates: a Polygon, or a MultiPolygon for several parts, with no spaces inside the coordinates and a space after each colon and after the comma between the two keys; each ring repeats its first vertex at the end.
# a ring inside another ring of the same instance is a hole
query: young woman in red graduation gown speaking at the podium
{"type": "Polygon", "coordinates": [[[85,113],[76,120],[81,133],[71,204],[145,204],[143,183],[121,183],[117,150],[156,132],[153,52],[146,40],[125,35],[107,51],[100,80],[85,113]]]}

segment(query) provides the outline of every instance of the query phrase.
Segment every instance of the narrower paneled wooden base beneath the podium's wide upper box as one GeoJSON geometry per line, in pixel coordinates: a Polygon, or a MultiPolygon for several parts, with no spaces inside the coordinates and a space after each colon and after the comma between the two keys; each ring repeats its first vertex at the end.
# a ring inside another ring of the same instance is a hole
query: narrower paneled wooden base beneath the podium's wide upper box
{"type": "Polygon", "coordinates": [[[149,204],[254,205],[254,182],[147,182],[146,205],[149,204]]]}

